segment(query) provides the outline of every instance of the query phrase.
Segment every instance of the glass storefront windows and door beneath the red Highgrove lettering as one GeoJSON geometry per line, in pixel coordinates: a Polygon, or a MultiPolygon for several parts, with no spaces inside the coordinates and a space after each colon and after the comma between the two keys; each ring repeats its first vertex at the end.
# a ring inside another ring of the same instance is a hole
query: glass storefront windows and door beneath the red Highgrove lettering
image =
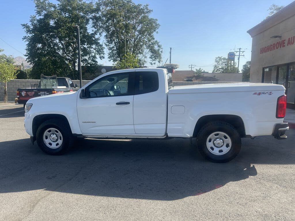
{"type": "Polygon", "coordinates": [[[263,83],[284,85],[287,95],[287,108],[295,109],[295,63],[277,65],[263,69],[263,83]]]}

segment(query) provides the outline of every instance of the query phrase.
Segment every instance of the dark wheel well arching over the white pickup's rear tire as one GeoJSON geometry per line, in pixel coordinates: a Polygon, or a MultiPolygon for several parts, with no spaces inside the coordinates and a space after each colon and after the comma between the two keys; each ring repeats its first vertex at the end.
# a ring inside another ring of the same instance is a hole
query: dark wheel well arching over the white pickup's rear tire
{"type": "Polygon", "coordinates": [[[237,129],[241,137],[246,136],[245,125],[241,117],[237,115],[230,115],[230,114],[216,114],[216,115],[206,115],[199,118],[194,129],[193,137],[197,136],[202,126],[204,126],[206,123],[209,123],[211,121],[227,122],[237,129]]]}

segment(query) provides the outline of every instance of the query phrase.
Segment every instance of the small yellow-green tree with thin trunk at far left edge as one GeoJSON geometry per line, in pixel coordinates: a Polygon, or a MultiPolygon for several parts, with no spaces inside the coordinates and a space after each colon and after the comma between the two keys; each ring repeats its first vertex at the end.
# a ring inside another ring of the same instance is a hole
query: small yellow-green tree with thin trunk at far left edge
{"type": "Polygon", "coordinates": [[[8,103],[7,82],[15,79],[15,67],[8,62],[0,62],[0,82],[4,83],[4,103],[8,103]]]}

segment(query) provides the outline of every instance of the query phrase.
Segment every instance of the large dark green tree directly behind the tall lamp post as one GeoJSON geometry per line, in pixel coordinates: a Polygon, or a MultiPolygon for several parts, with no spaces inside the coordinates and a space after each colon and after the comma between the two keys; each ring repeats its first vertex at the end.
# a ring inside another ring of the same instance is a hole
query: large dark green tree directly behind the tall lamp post
{"type": "Polygon", "coordinates": [[[80,27],[81,64],[98,65],[97,57],[104,58],[104,51],[99,42],[99,29],[91,29],[93,3],[83,0],[58,0],[58,4],[47,0],[34,2],[36,14],[30,17],[30,24],[22,24],[33,79],[40,79],[41,73],[78,79],[76,29],[71,27],[76,24],[80,27]]]}

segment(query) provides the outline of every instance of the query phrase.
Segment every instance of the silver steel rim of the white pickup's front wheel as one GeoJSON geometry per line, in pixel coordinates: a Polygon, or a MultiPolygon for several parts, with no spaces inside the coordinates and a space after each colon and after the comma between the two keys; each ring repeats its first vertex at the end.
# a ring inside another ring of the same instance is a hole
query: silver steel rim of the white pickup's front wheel
{"type": "Polygon", "coordinates": [[[48,128],[43,133],[43,141],[50,149],[57,149],[63,144],[63,135],[56,128],[48,128]]]}

